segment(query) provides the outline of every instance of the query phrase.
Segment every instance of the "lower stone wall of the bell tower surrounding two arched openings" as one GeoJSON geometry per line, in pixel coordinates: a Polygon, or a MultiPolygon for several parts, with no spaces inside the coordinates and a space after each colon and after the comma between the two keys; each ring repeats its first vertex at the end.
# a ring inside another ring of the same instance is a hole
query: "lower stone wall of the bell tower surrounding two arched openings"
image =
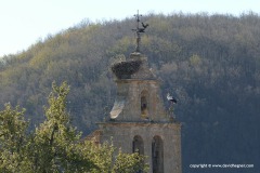
{"type": "Polygon", "coordinates": [[[152,170],[152,141],[160,136],[164,145],[164,172],[181,173],[181,124],[180,123],[100,123],[101,142],[110,141],[125,152],[132,152],[133,137],[139,135],[144,142],[144,155],[152,170]]]}

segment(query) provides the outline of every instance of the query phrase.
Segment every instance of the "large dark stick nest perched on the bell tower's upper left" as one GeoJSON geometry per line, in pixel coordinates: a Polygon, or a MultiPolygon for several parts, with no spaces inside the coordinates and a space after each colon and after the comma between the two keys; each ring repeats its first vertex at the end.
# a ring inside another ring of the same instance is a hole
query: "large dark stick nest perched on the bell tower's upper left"
{"type": "Polygon", "coordinates": [[[139,70],[142,61],[120,62],[112,66],[112,71],[119,79],[129,79],[131,78],[131,75],[135,74],[139,70]]]}

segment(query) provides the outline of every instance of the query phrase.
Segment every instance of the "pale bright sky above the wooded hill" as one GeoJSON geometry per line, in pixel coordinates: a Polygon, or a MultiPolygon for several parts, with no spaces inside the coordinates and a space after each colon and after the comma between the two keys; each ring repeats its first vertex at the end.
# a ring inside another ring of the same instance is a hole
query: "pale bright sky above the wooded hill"
{"type": "Polygon", "coordinates": [[[0,0],[0,57],[26,51],[48,35],[83,19],[102,22],[132,17],[136,11],[172,14],[260,14],[259,0],[0,0]]]}

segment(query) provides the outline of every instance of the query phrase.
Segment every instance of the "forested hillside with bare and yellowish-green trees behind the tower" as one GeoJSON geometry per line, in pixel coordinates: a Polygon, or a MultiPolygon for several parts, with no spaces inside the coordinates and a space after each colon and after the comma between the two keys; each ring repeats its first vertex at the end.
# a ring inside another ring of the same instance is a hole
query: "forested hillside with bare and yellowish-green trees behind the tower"
{"type": "MultiPolygon", "coordinates": [[[[260,16],[148,14],[141,52],[179,103],[183,172],[260,172],[260,16]],[[255,164],[253,169],[191,169],[197,163],[255,164]]],[[[77,26],[1,58],[0,105],[26,108],[43,121],[51,83],[70,85],[68,110],[88,134],[107,117],[116,88],[110,64],[134,51],[133,18],[77,26]]]]}

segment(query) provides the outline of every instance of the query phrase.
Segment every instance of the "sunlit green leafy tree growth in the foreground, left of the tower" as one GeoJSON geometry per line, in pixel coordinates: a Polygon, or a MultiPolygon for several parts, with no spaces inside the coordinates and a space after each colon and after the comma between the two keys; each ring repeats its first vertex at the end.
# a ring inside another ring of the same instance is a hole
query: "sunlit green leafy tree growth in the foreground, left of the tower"
{"type": "Polygon", "coordinates": [[[68,92],[65,82],[53,84],[49,107],[44,108],[46,121],[30,134],[26,133],[25,110],[5,105],[0,111],[0,172],[145,172],[143,156],[80,141],[81,133],[72,125],[66,111],[68,92]]]}

